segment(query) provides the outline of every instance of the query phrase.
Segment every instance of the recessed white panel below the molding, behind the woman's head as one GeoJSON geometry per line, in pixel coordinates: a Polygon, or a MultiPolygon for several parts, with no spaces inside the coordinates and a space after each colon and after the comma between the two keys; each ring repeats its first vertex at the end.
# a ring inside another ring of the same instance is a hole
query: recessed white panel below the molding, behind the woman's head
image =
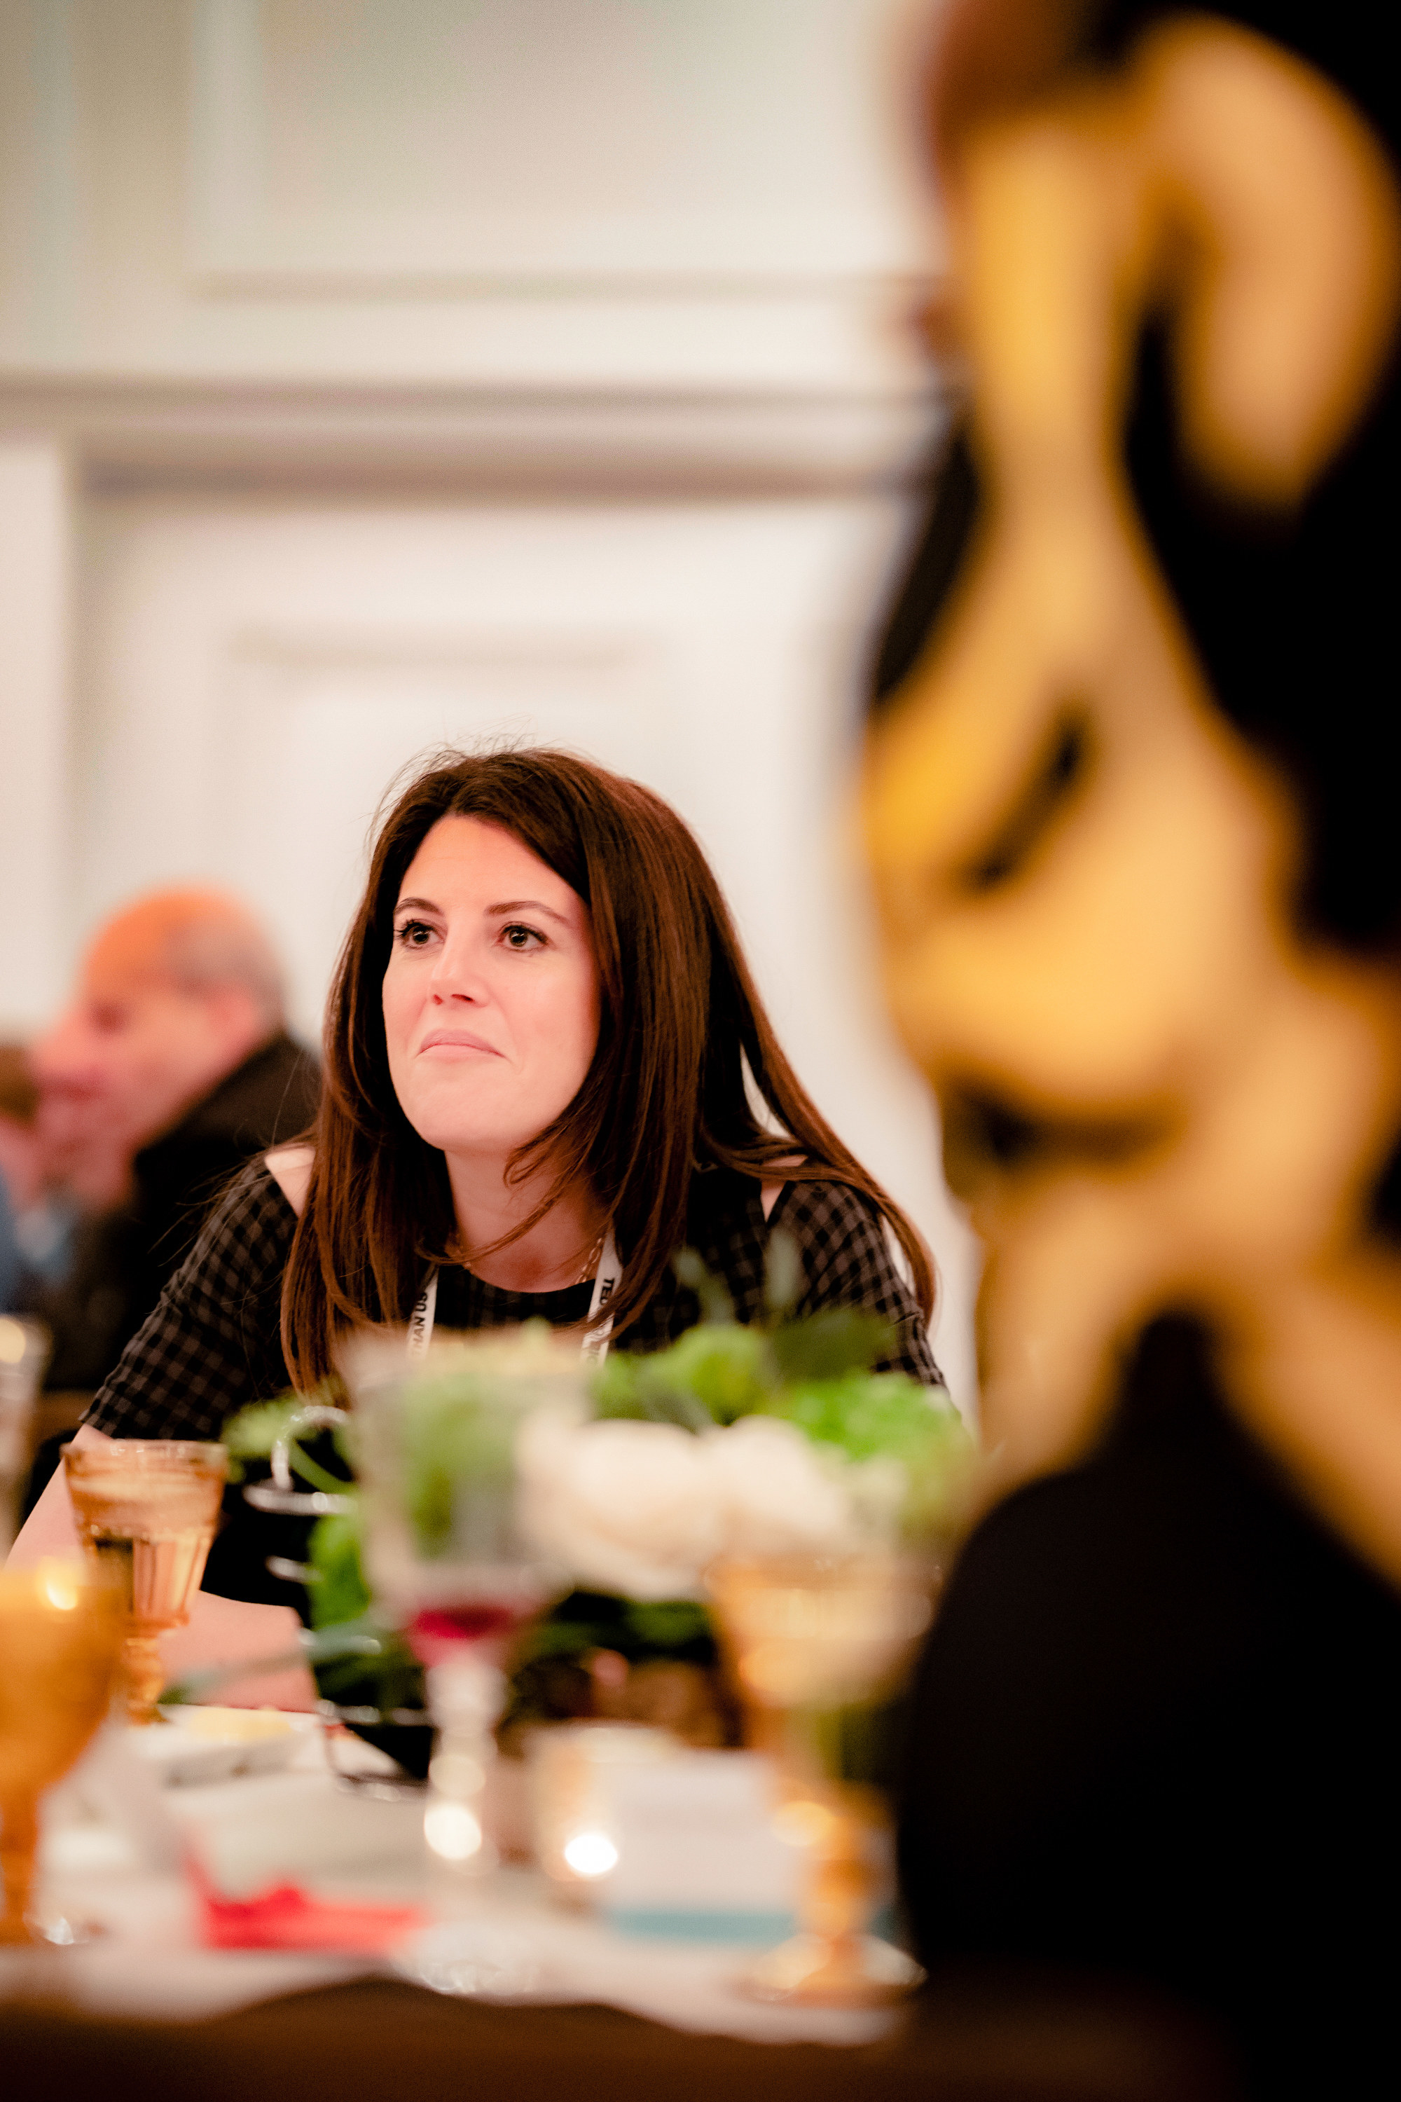
{"type": "Polygon", "coordinates": [[[851,660],[895,523],[872,498],[97,498],[78,916],[183,872],[239,883],[315,1034],[391,776],[435,742],[517,736],[674,801],[794,998],[825,977],[851,660]]]}

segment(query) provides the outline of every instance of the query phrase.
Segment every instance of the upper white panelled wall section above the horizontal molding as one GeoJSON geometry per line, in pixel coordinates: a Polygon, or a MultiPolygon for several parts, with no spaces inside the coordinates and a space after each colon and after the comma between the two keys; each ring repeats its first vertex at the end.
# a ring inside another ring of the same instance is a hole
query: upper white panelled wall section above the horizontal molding
{"type": "Polygon", "coordinates": [[[0,357],[914,385],[924,0],[0,0],[0,357]]]}

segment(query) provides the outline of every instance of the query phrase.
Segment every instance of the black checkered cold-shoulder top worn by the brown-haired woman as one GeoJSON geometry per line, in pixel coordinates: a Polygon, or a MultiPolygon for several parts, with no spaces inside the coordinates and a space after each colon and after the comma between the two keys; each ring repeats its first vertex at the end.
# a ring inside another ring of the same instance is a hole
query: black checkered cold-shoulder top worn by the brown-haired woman
{"type": "MultiPolygon", "coordinates": [[[[762,1310],[769,1234],[777,1228],[802,1255],[796,1314],[832,1305],[884,1314],[897,1341],[880,1368],[939,1383],[918,1303],[867,1198],[844,1183],[786,1183],[765,1221],[756,1181],[725,1169],[695,1175],[689,1244],[725,1282],[741,1322],[762,1310]]],[[[260,1160],[252,1162],[214,1207],[160,1305],[95,1396],[86,1421],[109,1438],[218,1438],[223,1423],[248,1402],[286,1394],[292,1379],[279,1337],[281,1274],[294,1230],[296,1215],[277,1181],[260,1160]]],[[[588,1284],[563,1293],[510,1293],[466,1270],[443,1270],[437,1322],[441,1328],[492,1328],[544,1316],[569,1326],[588,1318],[588,1284]]],[[[666,1276],[639,1318],[613,1337],[613,1349],[662,1349],[697,1318],[695,1295],[666,1276]]]]}

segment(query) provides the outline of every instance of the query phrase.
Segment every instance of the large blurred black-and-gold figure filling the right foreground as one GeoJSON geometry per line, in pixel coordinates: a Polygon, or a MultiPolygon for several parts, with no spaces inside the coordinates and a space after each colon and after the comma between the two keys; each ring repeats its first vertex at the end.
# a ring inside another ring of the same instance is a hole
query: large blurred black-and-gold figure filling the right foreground
{"type": "Polygon", "coordinates": [[[1401,2083],[1399,76],[1380,17],[964,0],[970,374],[867,841],[1002,1501],[914,1703],[935,1978],[1401,2083]]]}

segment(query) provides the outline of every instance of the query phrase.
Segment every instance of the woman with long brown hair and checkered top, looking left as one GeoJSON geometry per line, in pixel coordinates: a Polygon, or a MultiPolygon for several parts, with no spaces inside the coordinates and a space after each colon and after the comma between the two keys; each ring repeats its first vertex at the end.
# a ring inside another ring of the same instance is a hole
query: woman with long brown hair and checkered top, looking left
{"type": "Polygon", "coordinates": [[[924,1242],[802,1091],[681,818],[567,753],[443,753],[380,826],[315,1131],[229,1188],[80,1438],[218,1438],[365,1322],[657,1349],[699,1314],[674,1255],[750,1320],[779,1225],[796,1312],[870,1307],[939,1379],[924,1242]]]}

